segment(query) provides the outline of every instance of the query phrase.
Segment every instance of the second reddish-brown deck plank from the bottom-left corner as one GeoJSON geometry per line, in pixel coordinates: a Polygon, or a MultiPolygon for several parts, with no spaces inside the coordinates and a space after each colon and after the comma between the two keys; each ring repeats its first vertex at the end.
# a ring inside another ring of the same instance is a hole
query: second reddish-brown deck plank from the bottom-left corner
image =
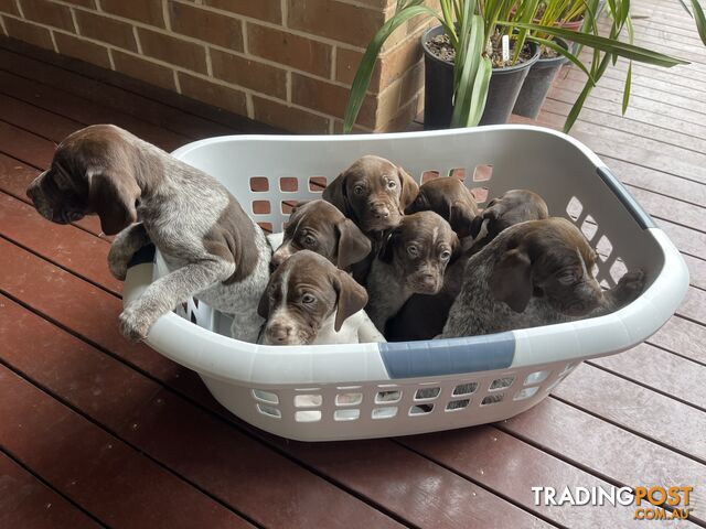
{"type": "Polygon", "coordinates": [[[0,443],[106,523],[250,527],[4,366],[0,391],[0,443]]]}

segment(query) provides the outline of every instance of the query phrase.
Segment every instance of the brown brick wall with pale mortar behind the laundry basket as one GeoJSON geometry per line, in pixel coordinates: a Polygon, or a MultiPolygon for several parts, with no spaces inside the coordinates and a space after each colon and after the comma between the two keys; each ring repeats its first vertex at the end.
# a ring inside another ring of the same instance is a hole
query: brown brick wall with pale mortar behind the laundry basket
{"type": "MultiPolygon", "coordinates": [[[[365,45],[395,0],[0,0],[9,36],[296,132],[340,132],[365,45]]],[[[407,127],[422,86],[413,20],[386,43],[360,130],[407,127]]]]}

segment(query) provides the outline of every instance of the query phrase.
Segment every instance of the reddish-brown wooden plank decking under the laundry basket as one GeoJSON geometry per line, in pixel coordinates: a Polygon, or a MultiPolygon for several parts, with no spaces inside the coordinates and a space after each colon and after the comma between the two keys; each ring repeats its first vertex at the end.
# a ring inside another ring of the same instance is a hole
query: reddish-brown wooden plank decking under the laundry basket
{"type": "MultiPolygon", "coordinates": [[[[96,219],[52,225],[24,195],[54,143],[89,123],[167,150],[268,129],[1,40],[0,527],[662,527],[630,508],[535,506],[531,490],[653,484],[695,486],[678,525],[706,527],[706,48],[676,1],[634,9],[652,14],[635,20],[639,43],[694,64],[635,65],[624,118],[619,64],[573,133],[684,255],[677,314],[510,421],[347,443],[257,431],[193,373],[124,341],[96,219]]],[[[565,72],[538,122],[560,127],[580,83],[565,72]]]]}

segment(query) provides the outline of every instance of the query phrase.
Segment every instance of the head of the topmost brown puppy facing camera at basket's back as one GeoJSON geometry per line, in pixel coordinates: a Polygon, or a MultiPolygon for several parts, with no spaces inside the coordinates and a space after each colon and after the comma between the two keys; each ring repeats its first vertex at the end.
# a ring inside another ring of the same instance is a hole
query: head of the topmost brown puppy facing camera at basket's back
{"type": "Polygon", "coordinates": [[[367,155],[331,182],[323,190],[323,199],[372,235],[397,226],[418,191],[404,169],[384,158],[367,155]]]}

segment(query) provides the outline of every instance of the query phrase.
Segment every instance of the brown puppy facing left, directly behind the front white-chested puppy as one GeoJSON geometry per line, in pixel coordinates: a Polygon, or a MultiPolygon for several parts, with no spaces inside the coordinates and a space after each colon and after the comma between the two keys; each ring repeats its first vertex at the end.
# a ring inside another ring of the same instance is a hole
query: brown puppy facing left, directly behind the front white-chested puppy
{"type": "Polygon", "coordinates": [[[325,257],[341,270],[362,261],[371,252],[371,240],[327,201],[311,201],[291,212],[284,233],[268,236],[275,253],[272,268],[279,267],[299,250],[325,257]]]}

